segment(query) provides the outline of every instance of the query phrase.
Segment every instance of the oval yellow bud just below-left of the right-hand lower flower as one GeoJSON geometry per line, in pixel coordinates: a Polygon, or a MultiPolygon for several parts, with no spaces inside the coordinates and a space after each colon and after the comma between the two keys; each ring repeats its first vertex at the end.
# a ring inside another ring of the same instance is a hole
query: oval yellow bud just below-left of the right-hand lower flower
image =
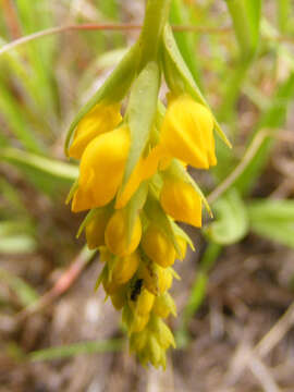
{"type": "Polygon", "coordinates": [[[175,250],[172,242],[155,224],[149,224],[142,237],[142,246],[146,255],[159,266],[167,268],[174,262],[175,250]]]}

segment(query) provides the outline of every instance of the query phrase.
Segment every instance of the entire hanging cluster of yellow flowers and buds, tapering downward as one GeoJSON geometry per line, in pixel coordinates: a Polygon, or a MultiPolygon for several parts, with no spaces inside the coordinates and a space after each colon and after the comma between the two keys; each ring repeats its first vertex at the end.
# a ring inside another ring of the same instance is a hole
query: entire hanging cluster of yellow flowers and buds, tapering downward
{"type": "Polygon", "coordinates": [[[99,283],[122,309],[131,351],[144,365],[164,368],[166,351],[175,346],[163,321],[176,314],[169,294],[177,277],[172,266],[184,259],[188,242],[174,221],[201,226],[201,196],[181,170],[208,169],[217,160],[212,114],[191,96],[169,99],[158,120],[156,137],[123,187],[132,139],[118,102],[99,102],[83,117],[69,155],[81,159],[72,210],[90,210],[85,232],[88,247],[99,248],[105,262],[99,283]],[[131,213],[143,185],[146,197],[131,213]]]}

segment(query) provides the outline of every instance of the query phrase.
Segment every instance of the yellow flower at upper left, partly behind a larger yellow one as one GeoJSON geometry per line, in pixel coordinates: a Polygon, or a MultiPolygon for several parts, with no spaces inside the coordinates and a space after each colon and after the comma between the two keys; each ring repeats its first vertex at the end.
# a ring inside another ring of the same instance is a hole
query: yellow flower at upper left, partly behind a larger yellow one
{"type": "Polygon", "coordinates": [[[120,103],[96,105],[76,126],[69,156],[81,159],[86,146],[98,135],[112,131],[122,121],[120,103]]]}

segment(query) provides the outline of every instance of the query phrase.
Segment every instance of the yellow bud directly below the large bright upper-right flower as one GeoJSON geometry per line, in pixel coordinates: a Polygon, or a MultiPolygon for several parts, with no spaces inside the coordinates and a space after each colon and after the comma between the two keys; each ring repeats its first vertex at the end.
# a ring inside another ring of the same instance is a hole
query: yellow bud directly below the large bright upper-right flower
{"type": "Polygon", "coordinates": [[[201,198],[194,187],[176,177],[164,180],[160,203],[174,220],[201,226],[201,198]]]}

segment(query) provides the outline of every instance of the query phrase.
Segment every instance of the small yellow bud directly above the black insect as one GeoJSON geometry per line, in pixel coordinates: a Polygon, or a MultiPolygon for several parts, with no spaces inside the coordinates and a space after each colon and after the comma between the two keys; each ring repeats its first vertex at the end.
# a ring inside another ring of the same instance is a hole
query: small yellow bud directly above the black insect
{"type": "Polygon", "coordinates": [[[139,256],[137,252],[132,255],[124,256],[117,260],[112,271],[112,280],[118,284],[123,284],[130,281],[134,275],[139,265],[139,256]]]}

